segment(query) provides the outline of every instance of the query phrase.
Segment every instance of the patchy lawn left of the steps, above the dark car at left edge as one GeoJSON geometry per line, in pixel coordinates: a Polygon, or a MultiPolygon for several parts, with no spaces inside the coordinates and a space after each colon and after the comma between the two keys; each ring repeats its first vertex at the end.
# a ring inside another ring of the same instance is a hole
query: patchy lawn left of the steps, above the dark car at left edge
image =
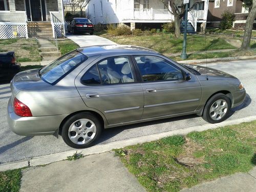
{"type": "Polygon", "coordinates": [[[17,62],[41,61],[39,46],[34,39],[0,39],[0,52],[14,51],[17,62]]]}

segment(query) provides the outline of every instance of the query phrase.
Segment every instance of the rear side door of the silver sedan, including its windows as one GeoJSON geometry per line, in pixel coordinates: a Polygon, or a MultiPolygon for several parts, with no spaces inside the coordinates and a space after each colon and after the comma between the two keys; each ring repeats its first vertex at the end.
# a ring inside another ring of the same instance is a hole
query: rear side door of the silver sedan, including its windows
{"type": "Polygon", "coordinates": [[[104,58],[83,74],[75,83],[88,108],[103,114],[109,124],[141,119],[144,95],[129,56],[104,58]]]}

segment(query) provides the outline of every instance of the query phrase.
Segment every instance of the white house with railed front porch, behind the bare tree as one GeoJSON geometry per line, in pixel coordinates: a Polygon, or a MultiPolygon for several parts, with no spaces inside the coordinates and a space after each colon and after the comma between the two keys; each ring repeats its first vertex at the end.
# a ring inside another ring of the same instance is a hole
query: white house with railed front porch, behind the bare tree
{"type": "MultiPolygon", "coordinates": [[[[209,0],[196,0],[194,10],[188,13],[188,20],[197,30],[198,24],[205,24],[209,0]]],[[[124,23],[134,29],[137,24],[162,24],[174,20],[159,0],[86,0],[84,3],[87,16],[94,24],[124,23]]]]}

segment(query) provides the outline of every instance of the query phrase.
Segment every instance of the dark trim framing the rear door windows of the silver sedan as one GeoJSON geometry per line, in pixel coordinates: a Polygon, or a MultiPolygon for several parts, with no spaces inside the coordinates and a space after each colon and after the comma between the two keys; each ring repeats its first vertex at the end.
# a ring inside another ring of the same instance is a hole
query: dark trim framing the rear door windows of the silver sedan
{"type": "Polygon", "coordinates": [[[84,86],[89,86],[89,87],[92,87],[92,86],[111,86],[111,85],[118,85],[118,84],[132,84],[132,83],[139,83],[140,81],[137,79],[137,75],[136,75],[136,72],[134,70],[134,66],[133,66],[133,60],[132,60],[132,57],[131,55],[118,55],[118,56],[111,56],[111,57],[105,57],[99,61],[97,61],[96,63],[94,63],[92,65],[92,67],[90,67],[86,72],[84,72],[84,74],[82,75],[82,77],[80,78],[80,83],[83,84],[84,86]],[[120,58],[120,57],[127,57],[129,62],[130,62],[130,67],[131,67],[131,71],[133,73],[133,77],[134,77],[134,82],[119,82],[119,83],[110,83],[110,84],[104,84],[102,83],[102,78],[101,78],[101,74],[100,74],[100,71],[99,71],[99,68],[98,68],[98,64],[100,62],[102,62],[103,60],[106,60],[106,59],[109,59],[109,58],[120,58]],[[99,73],[99,78],[100,78],[100,84],[93,84],[93,85],[90,85],[90,84],[85,84],[82,82],[82,77],[91,69],[94,67],[94,65],[97,66],[97,70],[98,70],[98,73],[99,73]]]}

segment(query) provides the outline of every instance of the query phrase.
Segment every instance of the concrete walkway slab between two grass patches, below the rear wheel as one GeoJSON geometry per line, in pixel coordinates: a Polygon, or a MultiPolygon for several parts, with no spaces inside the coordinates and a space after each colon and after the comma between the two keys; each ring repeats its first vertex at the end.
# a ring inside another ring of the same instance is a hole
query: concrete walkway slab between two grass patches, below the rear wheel
{"type": "MultiPolygon", "coordinates": [[[[84,149],[86,150],[86,149],[84,149]]],[[[118,191],[145,189],[112,152],[23,170],[20,192],[118,191]]]]}

